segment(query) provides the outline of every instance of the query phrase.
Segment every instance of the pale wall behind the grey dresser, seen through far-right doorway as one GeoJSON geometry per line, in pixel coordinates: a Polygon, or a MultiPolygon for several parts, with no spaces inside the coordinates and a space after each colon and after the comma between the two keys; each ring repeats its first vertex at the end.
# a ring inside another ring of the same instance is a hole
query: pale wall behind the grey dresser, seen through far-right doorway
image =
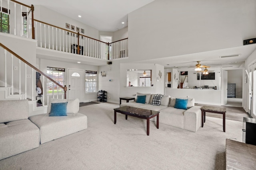
{"type": "Polygon", "coordinates": [[[228,71],[228,83],[236,84],[236,98],[242,98],[243,94],[243,70],[227,70],[228,71]]]}

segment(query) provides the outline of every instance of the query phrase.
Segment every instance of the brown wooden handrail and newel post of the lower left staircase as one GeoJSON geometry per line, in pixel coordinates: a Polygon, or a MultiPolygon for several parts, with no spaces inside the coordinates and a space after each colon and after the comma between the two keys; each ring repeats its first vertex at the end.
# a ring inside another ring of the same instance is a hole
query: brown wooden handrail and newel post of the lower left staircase
{"type": "Polygon", "coordinates": [[[50,78],[49,76],[47,76],[46,74],[44,74],[44,72],[42,72],[41,70],[39,70],[38,68],[36,68],[35,66],[33,66],[32,64],[30,64],[28,61],[26,61],[25,59],[23,59],[22,57],[20,57],[18,54],[14,53],[11,49],[9,49],[8,47],[6,47],[5,45],[3,45],[2,43],[0,43],[0,46],[2,46],[4,49],[6,49],[8,52],[10,52],[11,54],[13,54],[15,57],[17,57],[18,59],[20,59],[21,61],[23,61],[24,63],[28,64],[30,67],[32,67],[34,70],[36,70],[37,72],[40,72],[42,75],[44,75],[46,78],[48,78],[49,80],[51,80],[52,82],[54,82],[57,86],[59,86],[60,88],[62,88],[64,90],[64,98],[66,99],[66,91],[67,91],[67,87],[66,85],[63,87],[60,84],[58,84],[55,80],[53,80],[52,78],[50,78]]]}

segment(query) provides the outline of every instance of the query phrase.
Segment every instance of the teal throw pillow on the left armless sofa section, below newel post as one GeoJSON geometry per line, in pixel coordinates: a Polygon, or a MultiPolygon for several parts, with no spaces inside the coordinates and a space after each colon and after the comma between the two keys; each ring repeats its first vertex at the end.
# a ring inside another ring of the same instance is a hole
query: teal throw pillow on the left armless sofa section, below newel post
{"type": "Polygon", "coordinates": [[[66,103],[52,103],[51,112],[49,116],[66,116],[67,115],[67,105],[66,103]]]}

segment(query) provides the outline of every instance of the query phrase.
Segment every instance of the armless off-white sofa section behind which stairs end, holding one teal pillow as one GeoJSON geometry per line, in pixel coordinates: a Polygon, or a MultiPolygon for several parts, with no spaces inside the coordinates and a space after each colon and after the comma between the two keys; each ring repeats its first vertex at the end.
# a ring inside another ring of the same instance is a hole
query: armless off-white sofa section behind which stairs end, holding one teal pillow
{"type": "Polygon", "coordinates": [[[51,99],[48,113],[30,116],[32,121],[40,129],[40,144],[70,135],[87,129],[87,116],[78,113],[78,99],[51,99]],[[67,116],[49,116],[52,103],[67,104],[67,116]]]}

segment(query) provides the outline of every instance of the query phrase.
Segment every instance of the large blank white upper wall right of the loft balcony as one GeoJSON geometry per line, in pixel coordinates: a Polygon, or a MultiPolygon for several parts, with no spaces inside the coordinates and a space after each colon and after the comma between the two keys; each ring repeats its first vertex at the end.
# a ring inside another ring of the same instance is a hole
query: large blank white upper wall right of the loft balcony
{"type": "Polygon", "coordinates": [[[256,20],[256,15],[252,15],[255,3],[155,0],[128,14],[129,60],[242,46],[243,39],[256,37],[256,22],[252,22],[256,20]],[[246,27],[238,24],[242,20],[247,21],[246,27]]]}

